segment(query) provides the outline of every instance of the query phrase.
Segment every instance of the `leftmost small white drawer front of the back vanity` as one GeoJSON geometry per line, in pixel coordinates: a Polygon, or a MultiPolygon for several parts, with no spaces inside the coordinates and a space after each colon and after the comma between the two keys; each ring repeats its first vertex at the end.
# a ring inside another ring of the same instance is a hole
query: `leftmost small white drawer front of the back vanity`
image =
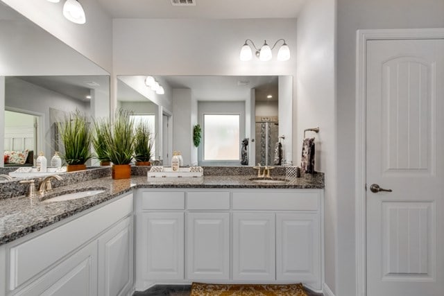
{"type": "Polygon", "coordinates": [[[144,191],[142,209],[185,209],[185,192],[144,191]]]}

